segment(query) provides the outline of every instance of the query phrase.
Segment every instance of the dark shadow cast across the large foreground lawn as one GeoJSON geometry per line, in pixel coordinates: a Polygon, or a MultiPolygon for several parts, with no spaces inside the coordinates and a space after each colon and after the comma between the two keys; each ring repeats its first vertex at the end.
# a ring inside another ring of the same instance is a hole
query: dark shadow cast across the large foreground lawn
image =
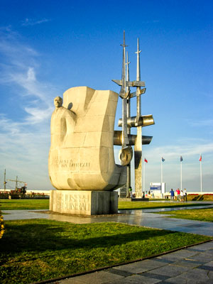
{"type": "MultiPolygon", "coordinates": [[[[113,224],[110,226],[114,230],[113,224]]],[[[67,224],[54,226],[54,224],[6,224],[6,234],[1,239],[1,253],[18,253],[23,251],[42,252],[47,250],[63,249],[95,249],[127,244],[129,241],[143,241],[155,237],[175,234],[175,231],[144,229],[131,226],[119,226],[116,231],[100,236],[103,224],[96,224],[97,231],[92,231],[92,225],[67,224]],[[98,229],[99,226],[99,229],[98,229]],[[124,232],[120,233],[121,229],[124,232]],[[129,232],[132,230],[132,232],[129,232]],[[139,231],[138,231],[139,230],[139,231]],[[99,236],[97,236],[99,235],[99,236]]]]}

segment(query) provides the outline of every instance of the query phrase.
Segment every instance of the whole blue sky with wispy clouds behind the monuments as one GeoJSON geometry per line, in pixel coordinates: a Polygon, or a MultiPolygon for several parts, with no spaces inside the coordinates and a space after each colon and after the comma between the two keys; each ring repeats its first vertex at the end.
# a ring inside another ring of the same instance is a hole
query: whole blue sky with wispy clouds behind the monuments
{"type": "MultiPolygon", "coordinates": [[[[136,79],[140,38],[142,114],[153,114],[153,136],[143,147],[146,188],[200,190],[213,185],[212,1],[0,1],[0,186],[6,178],[48,190],[48,151],[53,99],[70,87],[119,87],[123,31],[130,79],[136,79]]],[[[136,114],[135,101],[132,115],[136,114]]],[[[121,99],[117,121],[121,117],[121,99]]],[[[134,130],[132,129],[132,133],[134,130]]],[[[117,157],[119,148],[115,148],[117,157]]],[[[116,160],[118,160],[116,158],[116,160]]],[[[13,183],[9,184],[11,187],[13,183]]]]}

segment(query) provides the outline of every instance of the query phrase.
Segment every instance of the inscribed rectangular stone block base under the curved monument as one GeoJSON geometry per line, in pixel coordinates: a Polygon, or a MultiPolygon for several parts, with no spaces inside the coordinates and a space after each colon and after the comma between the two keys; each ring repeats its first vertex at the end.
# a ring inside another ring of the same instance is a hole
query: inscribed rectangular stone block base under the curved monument
{"type": "Polygon", "coordinates": [[[66,214],[118,213],[118,192],[50,190],[50,211],[66,214]]]}

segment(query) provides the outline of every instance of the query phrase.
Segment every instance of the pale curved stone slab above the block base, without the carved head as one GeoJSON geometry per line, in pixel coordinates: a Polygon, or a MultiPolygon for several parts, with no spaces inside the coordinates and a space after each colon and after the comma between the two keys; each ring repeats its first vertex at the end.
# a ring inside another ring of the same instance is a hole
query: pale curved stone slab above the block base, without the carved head
{"type": "Polygon", "coordinates": [[[119,94],[74,87],[53,111],[50,181],[58,190],[115,190],[126,167],[114,161],[114,119],[119,94]]]}

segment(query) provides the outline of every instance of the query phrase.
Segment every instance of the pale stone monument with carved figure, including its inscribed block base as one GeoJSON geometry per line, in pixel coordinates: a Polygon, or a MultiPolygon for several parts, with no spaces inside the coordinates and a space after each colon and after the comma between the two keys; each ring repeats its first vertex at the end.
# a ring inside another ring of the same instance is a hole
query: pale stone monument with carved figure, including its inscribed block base
{"type": "Polygon", "coordinates": [[[114,119],[119,94],[89,87],[68,89],[54,99],[49,175],[57,190],[50,210],[72,214],[117,212],[126,167],[114,161],[114,119]]]}

